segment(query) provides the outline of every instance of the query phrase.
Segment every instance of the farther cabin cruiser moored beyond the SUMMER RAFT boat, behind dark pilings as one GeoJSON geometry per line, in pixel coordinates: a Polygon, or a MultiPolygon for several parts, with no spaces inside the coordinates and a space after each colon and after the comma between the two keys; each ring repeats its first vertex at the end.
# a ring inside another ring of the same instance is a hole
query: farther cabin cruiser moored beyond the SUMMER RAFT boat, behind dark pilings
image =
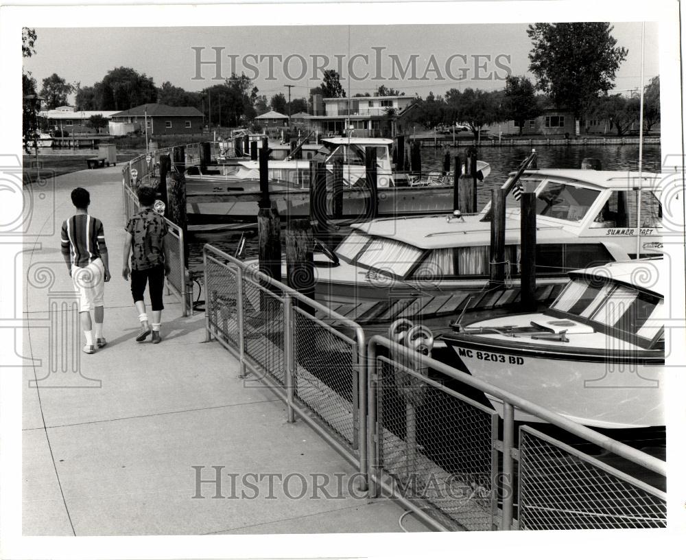
{"type": "MultiPolygon", "coordinates": [[[[366,186],[365,150],[374,148],[377,160],[378,215],[381,217],[427,215],[452,211],[451,176],[427,174],[409,180],[406,174],[392,171],[390,148],[393,141],[383,138],[322,139],[311,159],[269,161],[270,199],[282,218],[309,218],[310,163],[322,161],[327,168],[328,215],[333,214],[333,165],[343,170],[343,208],[341,218],[358,220],[366,215],[369,189],[366,186]],[[446,180],[449,177],[450,180],[446,180]]],[[[477,162],[477,173],[485,178],[490,165],[477,162]]],[[[259,161],[236,161],[235,165],[202,174],[200,167],[187,169],[186,193],[189,224],[255,222],[260,199],[259,161]]]]}

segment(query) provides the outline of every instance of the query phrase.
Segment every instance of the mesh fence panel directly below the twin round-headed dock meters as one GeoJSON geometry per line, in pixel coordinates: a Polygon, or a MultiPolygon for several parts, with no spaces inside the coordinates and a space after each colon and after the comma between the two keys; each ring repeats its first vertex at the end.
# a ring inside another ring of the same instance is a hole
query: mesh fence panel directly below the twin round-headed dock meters
{"type": "Polygon", "coordinates": [[[495,411],[388,358],[377,372],[377,468],[443,522],[493,529],[495,411]]]}

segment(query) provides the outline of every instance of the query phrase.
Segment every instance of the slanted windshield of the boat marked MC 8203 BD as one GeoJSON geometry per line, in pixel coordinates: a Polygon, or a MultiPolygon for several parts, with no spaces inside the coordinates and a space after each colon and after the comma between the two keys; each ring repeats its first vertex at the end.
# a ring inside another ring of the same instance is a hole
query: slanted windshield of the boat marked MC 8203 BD
{"type": "Polygon", "coordinates": [[[550,308],[652,340],[664,326],[663,305],[663,299],[629,286],[574,279],[550,308]]]}

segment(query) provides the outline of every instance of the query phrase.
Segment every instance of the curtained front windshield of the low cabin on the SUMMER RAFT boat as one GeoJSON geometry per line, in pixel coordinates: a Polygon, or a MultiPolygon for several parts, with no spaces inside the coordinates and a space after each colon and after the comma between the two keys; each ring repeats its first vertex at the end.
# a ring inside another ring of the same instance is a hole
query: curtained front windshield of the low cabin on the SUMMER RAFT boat
{"type": "Polygon", "coordinates": [[[338,245],[335,253],[352,264],[402,277],[417,263],[424,250],[401,241],[353,231],[338,245]]]}

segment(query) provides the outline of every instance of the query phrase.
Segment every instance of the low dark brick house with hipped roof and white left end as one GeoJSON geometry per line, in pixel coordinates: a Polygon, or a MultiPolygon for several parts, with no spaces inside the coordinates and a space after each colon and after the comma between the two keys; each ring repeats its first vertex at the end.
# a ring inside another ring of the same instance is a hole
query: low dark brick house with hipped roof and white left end
{"type": "Polygon", "coordinates": [[[112,115],[110,134],[119,136],[134,130],[144,131],[146,126],[150,135],[200,134],[203,117],[195,107],[148,103],[112,115]]]}

